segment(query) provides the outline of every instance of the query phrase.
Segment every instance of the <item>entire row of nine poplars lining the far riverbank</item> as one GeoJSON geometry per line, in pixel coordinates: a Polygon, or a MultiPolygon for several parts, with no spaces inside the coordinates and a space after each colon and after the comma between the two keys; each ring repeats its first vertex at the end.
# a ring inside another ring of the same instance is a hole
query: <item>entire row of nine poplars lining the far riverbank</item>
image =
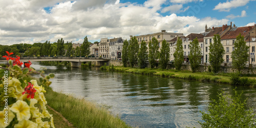
{"type": "MultiPolygon", "coordinates": [[[[221,44],[220,35],[214,35],[213,42],[209,46],[209,63],[212,69],[212,72],[218,73],[221,69],[221,64],[224,62],[223,56],[225,54],[225,50],[223,45],[221,44]]],[[[199,46],[199,41],[195,38],[190,43],[190,54],[188,55],[190,61],[190,67],[193,72],[197,72],[200,67],[202,50],[199,46]]],[[[238,69],[240,72],[246,65],[248,58],[248,50],[249,47],[246,45],[246,41],[244,40],[244,36],[241,33],[237,36],[236,41],[234,42],[234,51],[232,51],[232,66],[233,68],[238,69]]],[[[148,47],[146,46],[146,42],[142,40],[141,45],[139,47],[138,40],[134,36],[130,39],[130,43],[125,40],[123,43],[122,50],[122,62],[123,66],[127,67],[127,63],[130,62],[130,66],[134,67],[136,63],[138,63],[139,68],[145,68],[147,65],[147,61],[150,64],[150,68],[157,67],[159,60],[160,68],[166,69],[169,58],[170,58],[170,49],[169,44],[164,39],[162,41],[162,47],[159,51],[158,40],[153,37],[150,40],[148,47]],[[148,48],[148,49],[147,49],[148,48]]],[[[184,51],[182,40],[178,38],[176,43],[176,50],[174,53],[174,66],[176,70],[181,70],[182,63],[184,61],[184,51]]]]}

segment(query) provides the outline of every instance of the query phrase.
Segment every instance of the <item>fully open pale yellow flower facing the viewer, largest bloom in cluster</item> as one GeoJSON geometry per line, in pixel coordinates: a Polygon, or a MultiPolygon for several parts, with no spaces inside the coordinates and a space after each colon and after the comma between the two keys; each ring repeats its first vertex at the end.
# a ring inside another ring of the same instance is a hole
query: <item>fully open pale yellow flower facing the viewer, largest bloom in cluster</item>
{"type": "Polygon", "coordinates": [[[16,113],[18,121],[28,120],[30,118],[29,105],[25,101],[17,100],[13,103],[10,110],[16,113]]]}

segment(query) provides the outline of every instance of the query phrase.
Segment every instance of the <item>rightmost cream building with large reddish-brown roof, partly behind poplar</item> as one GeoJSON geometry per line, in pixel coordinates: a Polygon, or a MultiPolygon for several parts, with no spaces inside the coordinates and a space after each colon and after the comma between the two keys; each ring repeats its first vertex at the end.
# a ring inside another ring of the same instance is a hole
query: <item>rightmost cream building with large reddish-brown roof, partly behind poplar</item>
{"type": "MultiPolygon", "coordinates": [[[[242,36],[244,36],[244,39],[246,41],[246,45],[250,46],[250,53],[255,52],[255,40],[254,41],[252,40],[255,37],[255,33],[256,33],[255,26],[256,25],[246,26],[246,27],[233,27],[228,32],[226,32],[225,35],[223,35],[221,37],[221,42],[222,42],[223,47],[225,49],[225,55],[224,55],[224,62],[225,63],[232,63],[231,54],[232,54],[232,51],[234,50],[234,42],[236,41],[237,36],[240,33],[241,33],[242,36]],[[249,33],[250,33],[250,37],[249,37],[249,33]],[[249,39],[250,39],[250,41],[252,41],[252,43],[250,45],[249,45],[249,39]]],[[[251,58],[250,62],[252,62],[254,64],[255,59],[251,58]]]]}

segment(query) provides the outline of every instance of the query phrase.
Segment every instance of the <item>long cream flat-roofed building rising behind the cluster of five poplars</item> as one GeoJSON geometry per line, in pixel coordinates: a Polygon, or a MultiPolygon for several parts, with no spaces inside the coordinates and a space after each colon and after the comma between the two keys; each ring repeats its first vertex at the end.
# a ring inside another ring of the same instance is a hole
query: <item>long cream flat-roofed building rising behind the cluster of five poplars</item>
{"type": "MultiPolygon", "coordinates": [[[[180,36],[183,36],[183,33],[170,33],[170,32],[166,32],[165,30],[162,30],[161,32],[158,32],[158,33],[138,35],[135,37],[137,38],[139,45],[141,44],[142,40],[144,40],[147,46],[148,46],[148,43],[152,40],[152,38],[155,37],[158,40],[158,46],[160,49],[162,46],[162,41],[164,39],[168,42],[169,40],[172,40],[175,37],[180,37],[180,36]]],[[[130,36],[130,38],[131,37],[132,36],[130,36]]]]}

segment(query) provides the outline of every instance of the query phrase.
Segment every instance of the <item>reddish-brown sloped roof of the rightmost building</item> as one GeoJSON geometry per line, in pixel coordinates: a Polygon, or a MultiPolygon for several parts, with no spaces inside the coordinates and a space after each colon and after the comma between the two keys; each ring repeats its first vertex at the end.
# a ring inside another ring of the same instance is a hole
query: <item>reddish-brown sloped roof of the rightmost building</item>
{"type": "Polygon", "coordinates": [[[246,36],[248,32],[251,31],[251,29],[254,26],[246,26],[246,27],[239,27],[239,28],[232,28],[230,29],[224,36],[221,37],[221,39],[235,39],[237,36],[241,33],[242,36],[246,36]]]}

